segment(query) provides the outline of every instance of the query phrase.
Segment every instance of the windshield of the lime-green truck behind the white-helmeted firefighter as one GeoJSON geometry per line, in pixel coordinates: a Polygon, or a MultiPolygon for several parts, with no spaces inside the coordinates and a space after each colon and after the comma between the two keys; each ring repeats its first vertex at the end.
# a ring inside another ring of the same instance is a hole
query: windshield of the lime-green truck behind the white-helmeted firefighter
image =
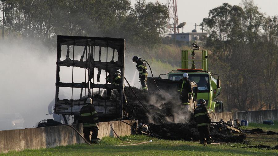
{"type": "MultiPolygon", "coordinates": [[[[209,79],[208,75],[204,74],[188,74],[189,80],[196,82],[198,85],[198,92],[209,92],[209,79]]],[[[179,81],[183,78],[183,74],[171,74],[169,76],[170,80],[179,81]]],[[[193,87],[193,92],[195,92],[195,87],[193,87]]]]}

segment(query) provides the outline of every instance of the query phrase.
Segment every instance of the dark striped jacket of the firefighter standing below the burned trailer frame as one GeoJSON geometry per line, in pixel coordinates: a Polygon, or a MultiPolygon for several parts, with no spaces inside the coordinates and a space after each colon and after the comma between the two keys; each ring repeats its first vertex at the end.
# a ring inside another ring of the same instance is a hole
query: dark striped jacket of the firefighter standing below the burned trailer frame
{"type": "Polygon", "coordinates": [[[98,114],[92,104],[84,105],[80,109],[80,117],[83,121],[83,127],[92,127],[99,123],[98,114]]]}

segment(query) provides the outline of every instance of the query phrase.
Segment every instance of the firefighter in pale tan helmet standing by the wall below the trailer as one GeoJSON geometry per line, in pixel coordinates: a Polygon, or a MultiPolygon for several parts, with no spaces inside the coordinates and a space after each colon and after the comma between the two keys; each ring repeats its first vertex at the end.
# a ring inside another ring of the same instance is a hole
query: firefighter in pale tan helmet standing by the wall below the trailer
{"type": "Polygon", "coordinates": [[[94,105],[92,105],[93,100],[88,98],[86,104],[80,109],[80,117],[83,121],[83,133],[84,138],[87,142],[97,143],[98,142],[98,125],[99,118],[98,114],[95,111],[94,105]],[[90,141],[90,132],[92,131],[91,141],[90,141]]]}

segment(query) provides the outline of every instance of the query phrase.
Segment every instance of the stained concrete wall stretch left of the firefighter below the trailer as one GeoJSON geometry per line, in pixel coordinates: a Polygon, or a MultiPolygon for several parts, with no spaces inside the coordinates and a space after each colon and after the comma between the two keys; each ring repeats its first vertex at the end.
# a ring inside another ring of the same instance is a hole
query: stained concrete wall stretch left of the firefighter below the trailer
{"type": "MultiPolygon", "coordinates": [[[[82,131],[82,124],[74,125],[82,131]]],[[[13,129],[0,131],[0,153],[9,150],[40,149],[83,143],[83,139],[68,126],[13,129]]]]}

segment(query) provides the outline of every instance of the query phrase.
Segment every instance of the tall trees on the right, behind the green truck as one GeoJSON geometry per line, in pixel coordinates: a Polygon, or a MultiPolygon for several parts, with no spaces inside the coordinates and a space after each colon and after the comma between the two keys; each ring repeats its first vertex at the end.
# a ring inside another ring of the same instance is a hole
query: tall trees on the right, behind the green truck
{"type": "Polygon", "coordinates": [[[278,109],[278,19],[253,1],[223,3],[203,19],[210,69],[221,75],[221,100],[228,110],[278,109]]]}

